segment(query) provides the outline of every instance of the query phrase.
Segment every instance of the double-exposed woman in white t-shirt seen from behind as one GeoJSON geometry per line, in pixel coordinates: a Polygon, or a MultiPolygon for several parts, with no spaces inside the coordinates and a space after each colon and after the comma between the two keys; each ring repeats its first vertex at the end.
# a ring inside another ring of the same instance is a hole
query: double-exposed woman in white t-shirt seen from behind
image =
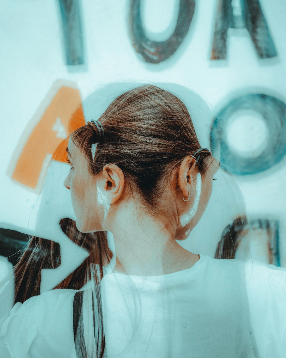
{"type": "Polygon", "coordinates": [[[183,102],[151,85],[125,92],[71,134],[67,154],[76,227],[113,233],[115,267],[94,289],[16,304],[5,357],[285,356],[285,272],[250,275],[175,241],[198,223],[219,167],[183,102]]]}

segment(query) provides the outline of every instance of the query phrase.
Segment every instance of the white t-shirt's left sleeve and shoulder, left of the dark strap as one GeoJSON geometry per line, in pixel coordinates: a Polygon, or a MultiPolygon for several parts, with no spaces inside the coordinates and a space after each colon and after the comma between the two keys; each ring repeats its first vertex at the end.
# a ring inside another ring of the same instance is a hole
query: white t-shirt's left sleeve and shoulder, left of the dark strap
{"type": "Polygon", "coordinates": [[[0,334],[1,358],[76,358],[73,337],[76,292],[52,290],[23,304],[16,303],[0,334]]]}

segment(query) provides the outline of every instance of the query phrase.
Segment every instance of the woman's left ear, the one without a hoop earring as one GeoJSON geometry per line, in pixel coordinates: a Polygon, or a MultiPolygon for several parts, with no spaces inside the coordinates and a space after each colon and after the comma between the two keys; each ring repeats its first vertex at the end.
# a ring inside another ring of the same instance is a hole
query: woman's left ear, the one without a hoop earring
{"type": "Polygon", "coordinates": [[[105,181],[104,189],[110,195],[111,204],[115,203],[122,195],[125,178],[123,171],[116,164],[106,164],[102,170],[105,181]]]}

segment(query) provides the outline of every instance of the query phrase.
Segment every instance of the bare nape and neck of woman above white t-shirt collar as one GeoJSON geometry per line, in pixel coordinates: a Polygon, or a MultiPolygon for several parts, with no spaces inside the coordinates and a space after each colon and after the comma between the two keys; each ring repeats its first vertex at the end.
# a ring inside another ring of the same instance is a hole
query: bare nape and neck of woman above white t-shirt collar
{"type": "Polygon", "coordinates": [[[108,231],[114,237],[118,272],[157,276],[188,269],[198,261],[198,255],[175,241],[173,213],[158,215],[155,220],[146,213],[138,213],[131,201],[116,208],[108,231]]]}

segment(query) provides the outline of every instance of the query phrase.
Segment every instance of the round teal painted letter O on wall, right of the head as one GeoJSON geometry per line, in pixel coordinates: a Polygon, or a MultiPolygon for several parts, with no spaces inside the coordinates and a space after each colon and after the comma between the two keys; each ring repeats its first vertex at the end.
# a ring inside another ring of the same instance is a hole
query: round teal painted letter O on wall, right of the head
{"type": "Polygon", "coordinates": [[[210,146],[212,153],[220,158],[222,168],[229,173],[251,175],[271,168],[286,154],[286,104],[276,97],[263,93],[248,93],[234,98],[214,119],[210,146]],[[233,113],[238,110],[256,111],[265,120],[268,142],[258,156],[246,158],[228,145],[227,126],[233,113]]]}

